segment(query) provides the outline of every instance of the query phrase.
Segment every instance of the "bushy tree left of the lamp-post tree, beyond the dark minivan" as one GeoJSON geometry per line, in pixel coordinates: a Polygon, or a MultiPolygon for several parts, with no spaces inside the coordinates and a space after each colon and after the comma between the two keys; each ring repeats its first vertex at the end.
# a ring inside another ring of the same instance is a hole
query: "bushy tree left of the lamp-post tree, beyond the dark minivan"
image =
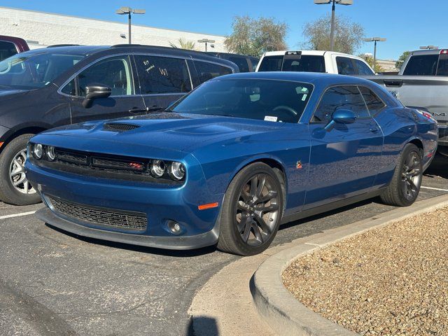
{"type": "Polygon", "coordinates": [[[272,18],[237,16],[232,34],[225,38],[225,47],[237,54],[260,56],[264,52],[287,49],[285,38],[288,25],[272,18]]]}

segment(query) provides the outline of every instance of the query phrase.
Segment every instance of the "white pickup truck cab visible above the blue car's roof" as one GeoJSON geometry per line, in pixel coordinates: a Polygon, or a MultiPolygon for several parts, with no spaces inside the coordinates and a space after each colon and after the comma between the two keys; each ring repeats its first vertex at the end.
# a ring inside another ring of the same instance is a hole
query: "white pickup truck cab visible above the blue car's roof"
{"type": "Polygon", "coordinates": [[[262,55],[256,71],[306,71],[339,73],[339,75],[373,76],[364,59],[323,50],[269,51],[262,55]]]}

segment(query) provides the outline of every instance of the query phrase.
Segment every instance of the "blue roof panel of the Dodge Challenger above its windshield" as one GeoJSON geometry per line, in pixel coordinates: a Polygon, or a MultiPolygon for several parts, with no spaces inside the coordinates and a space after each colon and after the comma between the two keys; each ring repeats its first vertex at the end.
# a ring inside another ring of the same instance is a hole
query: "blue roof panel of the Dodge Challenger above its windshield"
{"type": "Polygon", "coordinates": [[[318,72],[297,72],[297,71],[269,71],[269,72],[246,72],[233,73],[213,80],[220,79],[269,79],[269,80],[290,80],[302,83],[321,82],[325,85],[334,84],[352,84],[352,85],[368,85],[371,86],[372,81],[355,76],[337,75],[335,73],[318,73],[318,72]]]}

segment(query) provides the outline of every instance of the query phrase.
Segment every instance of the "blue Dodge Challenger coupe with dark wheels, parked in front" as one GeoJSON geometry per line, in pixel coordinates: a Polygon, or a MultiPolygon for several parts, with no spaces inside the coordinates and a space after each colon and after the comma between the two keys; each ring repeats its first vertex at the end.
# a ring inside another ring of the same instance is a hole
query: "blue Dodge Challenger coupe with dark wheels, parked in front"
{"type": "Polygon", "coordinates": [[[253,255],[281,223],[375,196],[412,204],[436,148],[435,121],[370,81],[239,73],[165,111],[38,134],[25,167],[54,227],[253,255]]]}

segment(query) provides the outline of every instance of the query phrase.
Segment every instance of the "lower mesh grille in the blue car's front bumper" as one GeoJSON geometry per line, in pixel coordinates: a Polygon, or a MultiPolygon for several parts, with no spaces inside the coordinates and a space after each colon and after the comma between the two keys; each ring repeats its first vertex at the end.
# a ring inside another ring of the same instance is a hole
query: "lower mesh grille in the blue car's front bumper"
{"type": "Polygon", "coordinates": [[[139,231],[146,230],[146,226],[148,225],[148,218],[144,213],[131,213],[114,209],[87,207],[82,204],[67,202],[55,197],[48,197],[48,199],[55,211],[68,218],[73,218],[76,221],[92,225],[106,226],[109,228],[139,231]]]}

